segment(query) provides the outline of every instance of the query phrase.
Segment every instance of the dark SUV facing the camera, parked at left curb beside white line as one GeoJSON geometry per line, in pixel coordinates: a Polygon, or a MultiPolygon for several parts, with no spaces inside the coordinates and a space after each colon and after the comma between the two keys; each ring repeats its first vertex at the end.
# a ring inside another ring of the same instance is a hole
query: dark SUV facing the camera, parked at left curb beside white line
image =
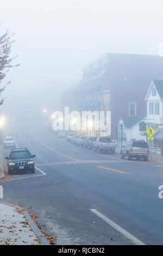
{"type": "Polygon", "coordinates": [[[8,160],[8,174],[21,170],[35,173],[33,157],[35,155],[31,155],[28,149],[12,149],[9,157],[5,157],[8,160]]]}

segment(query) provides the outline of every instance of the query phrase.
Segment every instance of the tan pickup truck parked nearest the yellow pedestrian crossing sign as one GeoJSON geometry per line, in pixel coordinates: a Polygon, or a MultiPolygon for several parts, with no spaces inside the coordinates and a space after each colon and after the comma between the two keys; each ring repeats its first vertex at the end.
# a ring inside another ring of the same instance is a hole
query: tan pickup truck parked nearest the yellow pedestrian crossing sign
{"type": "Polygon", "coordinates": [[[127,157],[127,160],[131,158],[136,158],[140,160],[142,158],[144,161],[148,161],[149,156],[149,147],[147,142],[141,141],[129,141],[126,144],[126,147],[121,149],[121,159],[127,157]]]}

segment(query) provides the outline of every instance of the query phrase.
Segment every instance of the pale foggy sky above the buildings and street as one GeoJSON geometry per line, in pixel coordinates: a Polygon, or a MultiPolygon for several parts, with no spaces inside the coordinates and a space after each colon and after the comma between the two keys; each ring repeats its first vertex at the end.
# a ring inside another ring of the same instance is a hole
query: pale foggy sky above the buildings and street
{"type": "Polygon", "coordinates": [[[106,52],[158,54],[162,9],[162,0],[1,0],[0,32],[15,32],[21,64],[8,76],[5,104],[26,95],[55,106],[83,66],[106,52]]]}

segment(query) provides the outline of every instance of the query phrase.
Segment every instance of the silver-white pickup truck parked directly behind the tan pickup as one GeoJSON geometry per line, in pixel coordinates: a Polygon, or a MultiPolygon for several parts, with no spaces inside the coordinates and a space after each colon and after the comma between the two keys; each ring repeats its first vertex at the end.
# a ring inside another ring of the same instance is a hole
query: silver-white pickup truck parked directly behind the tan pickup
{"type": "Polygon", "coordinates": [[[115,154],[116,143],[112,141],[110,137],[97,137],[96,141],[93,143],[93,150],[98,151],[98,153],[102,152],[111,152],[115,154]]]}

